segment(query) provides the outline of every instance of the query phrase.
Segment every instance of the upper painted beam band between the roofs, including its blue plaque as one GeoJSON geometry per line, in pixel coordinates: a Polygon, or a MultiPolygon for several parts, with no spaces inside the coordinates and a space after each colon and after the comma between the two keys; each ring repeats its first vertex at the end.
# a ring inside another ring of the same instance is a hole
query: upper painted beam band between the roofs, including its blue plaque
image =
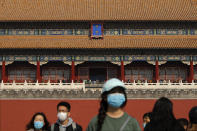
{"type": "MultiPolygon", "coordinates": [[[[89,29],[0,29],[4,35],[89,35],[89,29]]],[[[91,36],[103,35],[197,35],[197,29],[103,29],[103,24],[92,24],[91,36]]]]}

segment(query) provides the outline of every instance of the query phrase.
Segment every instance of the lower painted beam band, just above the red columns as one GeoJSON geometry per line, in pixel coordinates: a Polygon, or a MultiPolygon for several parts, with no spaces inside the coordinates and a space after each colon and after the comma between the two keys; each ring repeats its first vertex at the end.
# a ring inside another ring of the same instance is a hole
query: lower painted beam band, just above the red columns
{"type": "Polygon", "coordinates": [[[146,55],[125,55],[125,56],[0,56],[0,61],[197,61],[197,56],[146,56],[146,55]]]}

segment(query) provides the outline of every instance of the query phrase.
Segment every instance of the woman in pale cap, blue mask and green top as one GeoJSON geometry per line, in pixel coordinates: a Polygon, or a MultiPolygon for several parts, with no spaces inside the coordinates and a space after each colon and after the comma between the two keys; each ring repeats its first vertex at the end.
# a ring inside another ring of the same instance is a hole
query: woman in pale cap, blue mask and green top
{"type": "Polygon", "coordinates": [[[103,85],[99,113],[86,131],[141,131],[137,120],[123,111],[126,88],[119,79],[112,78],[103,85]]]}

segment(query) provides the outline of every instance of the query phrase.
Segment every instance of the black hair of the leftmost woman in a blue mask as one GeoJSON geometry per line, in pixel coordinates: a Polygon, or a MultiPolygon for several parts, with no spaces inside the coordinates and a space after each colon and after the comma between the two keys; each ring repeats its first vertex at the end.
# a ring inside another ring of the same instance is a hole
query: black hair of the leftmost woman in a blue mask
{"type": "Polygon", "coordinates": [[[26,130],[35,129],[34,128],[34,120],[35,120],[37,115],[41,115],[44,118],[44,123],[45,124],[42,127],[42,130],[48,130],[49,129],[49,122],[48,122],[48,120],[47,120],[47,118],[46,118],[46,116],[43,112],[37,112],[33,115],[30,122],[26,125],[26,130]]]}

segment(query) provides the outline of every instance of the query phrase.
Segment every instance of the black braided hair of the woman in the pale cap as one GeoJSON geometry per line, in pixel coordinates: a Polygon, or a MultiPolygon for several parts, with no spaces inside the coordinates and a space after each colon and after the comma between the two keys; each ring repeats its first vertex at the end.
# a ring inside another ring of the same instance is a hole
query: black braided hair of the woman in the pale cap
{"type": "Polygon", "coordinates": [[[126,106],[127,103],[127,95],[125,92],[125,89],[123,87],[117,86],[111,89],[110,91],[105,91],[101,94],[101,102],[100,102],[100,109],[98,114],[98,121],[97,121],[97,131],[101,131],[103,122],[106,117],[106,112],[108,109],[108,103],[107,103],[107,96],[111,93],[122,93],[125,96],[125,102],[120,106],[120,108],[123,108],[126,106]]]}

